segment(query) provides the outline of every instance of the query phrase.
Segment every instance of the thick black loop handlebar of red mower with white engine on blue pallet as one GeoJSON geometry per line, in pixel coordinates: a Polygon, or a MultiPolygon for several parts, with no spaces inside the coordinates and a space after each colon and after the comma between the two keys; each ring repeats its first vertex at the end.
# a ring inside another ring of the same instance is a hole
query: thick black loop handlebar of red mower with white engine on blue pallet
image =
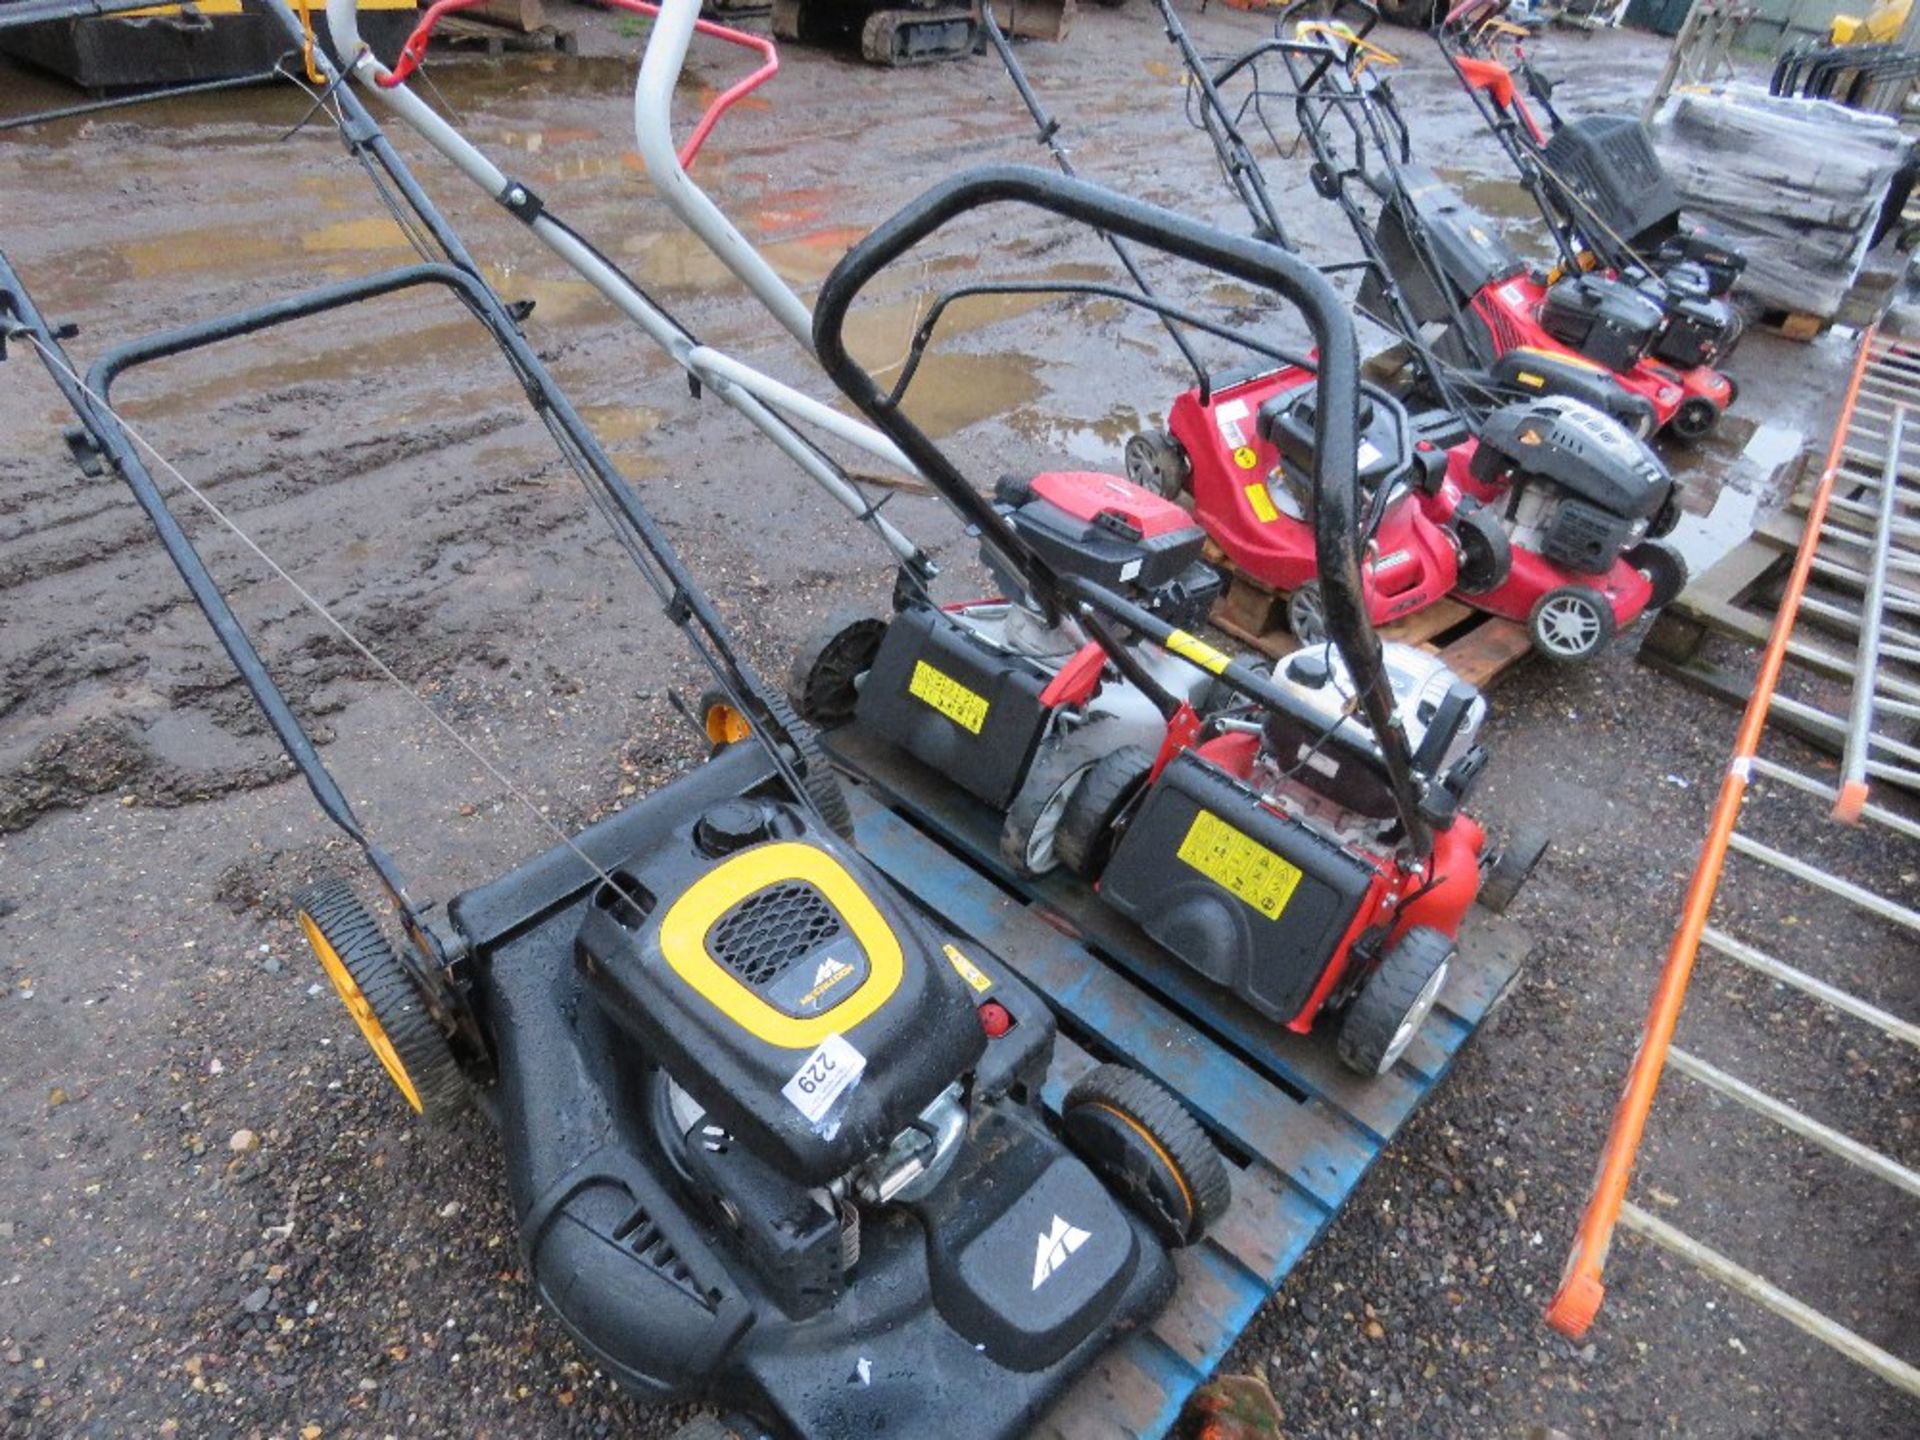
{"type": "MultiPolygon", "coordinates": [[[[1150,246],[1167,255],[1204,265],[1244,284],[1271,290],[1290,301],[1306,319],[1319,353],[1319,396],[1313,413],[1315,505],[1313,547],[1321,591],[1327,603],[1327,630],[1348,674],[1354,676],[1361,707],[1386,760],[1396,810],[1407,837],[1427,849],[1430,831],[1419,812],[1411,751],[1394,716],[1392,689],[1361,601],[1357,515],[1359,449],[1359,344],[1354,321],[1338,294],[1311,263],[1254,238],[1229,236],[1208,225],[1116,194],[1085,180],[1068,179],[1029,165],[989,165],[956,175],[933,186],[904,209],[881,221],[841,257],[828,275],[814,303],[814,349],[826,372],[860,411],[885,430],[914,461],[920,472],[968,522],[979,526],[985,543],[1020,576],[1029,595],[1050,614],[1096,611],[1148,637],[1164,624],[1144,626],[1144,612],[1119,595],[1087,582],[1068,582],[1056,574],[1018,536],[998,511],[954,467],[947,453],[914,424],[874,376],[847,349],[845,323],[852,301],[879,271],[900,259],[927,236],[968,211],[993,204],[1021,204],[1044,209],[1094,230],[1150,246]]],[[[1235,689],[1271,703],[1271,685],[1248,687],[1246,666],[1225,664],[1217,672],[1235,689]]]]}

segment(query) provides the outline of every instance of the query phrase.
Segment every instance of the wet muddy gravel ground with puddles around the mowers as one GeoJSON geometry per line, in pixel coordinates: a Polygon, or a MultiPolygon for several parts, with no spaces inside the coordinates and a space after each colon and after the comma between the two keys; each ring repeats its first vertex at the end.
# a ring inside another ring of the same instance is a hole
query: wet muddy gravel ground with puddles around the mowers
{"type": "MultiPolygon", "coordinates": [[[[445,102],[707,340],[824,394],[649,198],[626,129],[636,36],[561,10],[588,29],[582,58],[436,63],[445,102]]],[[[1192,23],[1219,50],[1261,27],[1235,12],[1192,23]]],[[[1452,81],[1425,42],[1396,38],[1419,142],[1524,236],[1452,81]]],[[[1638,102],[1663,56],[1624,35],[1551,48],[1574,108],[1638,102]]],[[[1171,52],[1140,0],[1087,10],[1069,44],[1025,56],[1089,177],[1242,228],[1179,121],[1171,52]]],[[[733,73],[701,48],[685,113],[733,73]]],[[[67,98],[0,63],[0,113],[67,98]]],[[[323,125],[286,138],[305,109],[286,88],[0,134],[0,246],[42,307],[81,326],[79,359],[407,259],[338,140],[323,125]]],[[[520,227],[411,138],[401,148],[509,298],[538,301],[530,336],[756,664],[780,674],[831,607],[879,605],[889,572],[868,536],[732,413],[693,403],[520,227]]],[[[699,169],[810,288],[918,186],[1031,157],[991,58],[881,73],[789,48],[699,169]]],[[[1309,250],[1348,253],[1298,165],[1275,177],[1309,250]]],[[[895,359],[927,284],[1075,278],[1100,261],[1083,236],[996,213],[893,276],[856,338],[895,359]]],[[[1236,288],[1188,294],[1260,319],[1236,288]]],[[[1183,380],[1152,323],[1112,305],[1000,303],[956,328],[916,413],[981,476],[1112,465],[1183,380]]],[[[1843,338],[1745,344],[1724,438],[1676,455],[1693,476],[1695,559],[1778,499],[1776,467],[1824,434],[1845,359],[1843,338]]],[[[518,795],[167,472],[328,764],[426,893],[495,874],[697,755],[666,703],[697,689],[691,662],[451,303],[390,301],[169,361],[115,396],[513,780],[518,795]]],[[[664,1432],[534,1306],[484,1125],[413,1125],[317,983],[288,897],[351,854],[288,780],[125,490],[65,461],[67,419],[15,349],[0,367],[0,1432],[664,1432]]],[[[966,540],[939,507],[900,493],[889,513],[966,584],[966,540]]],[[[1290,1434],[1920,1430],[1912,1400],[1634,1238],[1592,1344],[1540,1323],[1734,733],[1730,710],[1634,664],[1634,639],[1498,687],[1482,810],[1557,831],[1515,908],[1532,962],[1235,1352],[1269,1379],[1290,1434]]],[[[1778,797],[1755,820],[1912,897],[1910,852],[1778,797]]],[[[1910,943],[1824,935],[1809,897],[1751,877],[1730,910],[1753,939],[1914,1014],[1910,943]],[[1836,941],[1824,960],[1822,939],[1836,941]]],[[[1682,1039],[1920,1162],[1910,1060],[1786,993],[1703,966],[1682,1039]]],[[[1682,1087],[1657,1112],[1642,1202],[1868,1338],[1910,1342],[1910,1206],[1682,1087]]]]}

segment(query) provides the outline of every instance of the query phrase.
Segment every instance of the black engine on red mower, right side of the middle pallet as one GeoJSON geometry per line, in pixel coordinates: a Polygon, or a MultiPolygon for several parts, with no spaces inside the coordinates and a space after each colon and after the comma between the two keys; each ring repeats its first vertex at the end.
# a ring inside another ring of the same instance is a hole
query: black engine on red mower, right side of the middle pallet
{"type": "Polygon", "coordinates": [[[1659,457],[1592,405],[1565,396],[1503,405],[1480,428],[1471,478],[1500,505],[1515,549],[1605,574],[1680,518],[1680,484],[1659,457]]]}

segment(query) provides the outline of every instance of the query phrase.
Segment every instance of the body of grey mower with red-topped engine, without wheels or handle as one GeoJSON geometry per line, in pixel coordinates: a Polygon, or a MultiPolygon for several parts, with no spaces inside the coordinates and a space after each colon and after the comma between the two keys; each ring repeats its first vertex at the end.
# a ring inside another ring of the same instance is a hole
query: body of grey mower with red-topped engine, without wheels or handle
{"type": "MultiPolygon", "coordinates": [[[[1129,480],[1052,472],[1002,480],[996,495],[1014,532],[1056,572],[1094,580],[1169,624],[1196,624],[1219,595],[1219,576],[1200,561],[1200,526],[1129,480]]],[[[993,553],[983,559],[1006,599],[902,609],[860,682],[860,726],[1002,812],[1062,707],[1083,705],[1096,689],[1100,712],[1129,728],[1114,745],[1158,745],[1165,720],[1152,699],[1106,674],[1104,653],[1077,622],[1048,622],[993,553]]],[[[1142,645],[1135,655],[1175,693],[1206,682],[1165,651],[1142,645]]]]}

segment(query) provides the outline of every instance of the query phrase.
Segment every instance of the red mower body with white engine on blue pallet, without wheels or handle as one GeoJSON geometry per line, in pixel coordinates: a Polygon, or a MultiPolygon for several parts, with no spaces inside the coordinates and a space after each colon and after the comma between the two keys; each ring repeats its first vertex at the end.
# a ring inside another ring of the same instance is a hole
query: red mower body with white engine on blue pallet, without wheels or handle
{"type": "Polygon", "coordinates": [[[1432,854],[1405,854],[1384,758],[1323,643],[1275,666],[1290,707],[1212,716],[1217,737],[1154,778],[1100,874],[1110,906],[1298,1031],[1365,979],[1356,956],[1409,925],[1452,937],[1478,887],[1484,835],[1459,803],[1486,762],[1486,701],[1438,659],[1382,649],[1432,854]]]}

